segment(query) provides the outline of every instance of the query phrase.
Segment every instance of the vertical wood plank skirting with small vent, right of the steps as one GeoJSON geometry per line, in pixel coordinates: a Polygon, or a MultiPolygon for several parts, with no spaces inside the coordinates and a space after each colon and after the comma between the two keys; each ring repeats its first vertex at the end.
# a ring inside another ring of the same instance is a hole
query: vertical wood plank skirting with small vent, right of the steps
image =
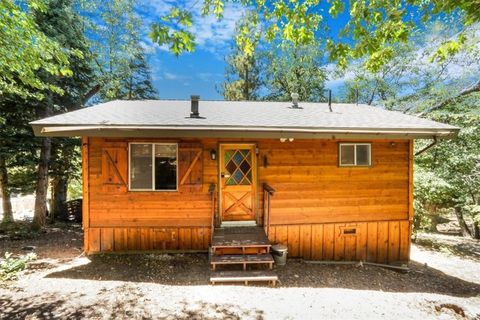
{"type": "Polygon", "coordinates": [[[292,258],[391,263],[409,259],[410,228],[408,220],[291,224],[270,227],[268,237],[292,258]]]}

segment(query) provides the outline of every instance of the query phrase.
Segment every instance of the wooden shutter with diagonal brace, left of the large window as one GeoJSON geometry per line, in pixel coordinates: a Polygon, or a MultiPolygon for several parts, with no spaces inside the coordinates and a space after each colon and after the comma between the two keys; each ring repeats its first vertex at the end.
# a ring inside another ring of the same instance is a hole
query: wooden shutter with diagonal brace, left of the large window
{"type": "Polygon", "coordinates": [[[104,188],[127,191],[127,172],[126,147],[102,149],[102,182],[104,188]]]}

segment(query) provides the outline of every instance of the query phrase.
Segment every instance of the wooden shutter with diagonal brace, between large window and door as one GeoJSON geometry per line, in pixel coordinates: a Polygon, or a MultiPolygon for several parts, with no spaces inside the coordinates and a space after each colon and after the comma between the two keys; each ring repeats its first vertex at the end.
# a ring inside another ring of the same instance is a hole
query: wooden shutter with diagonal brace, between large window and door
{"type": "Polygon", "coordinates": [[[203,146],[199,143],[178,144],[178,188],[201,191],[203,186],[203,146]]]}

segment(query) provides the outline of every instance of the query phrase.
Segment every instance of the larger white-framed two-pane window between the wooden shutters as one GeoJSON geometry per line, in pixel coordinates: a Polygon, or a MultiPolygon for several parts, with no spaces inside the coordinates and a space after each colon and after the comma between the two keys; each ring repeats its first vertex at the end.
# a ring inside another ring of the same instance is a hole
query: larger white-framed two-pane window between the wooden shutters
{"type": "Polygon", "coordinates": [[[177,190],[176,143],[130,143],[129,189],[177,190]]]}

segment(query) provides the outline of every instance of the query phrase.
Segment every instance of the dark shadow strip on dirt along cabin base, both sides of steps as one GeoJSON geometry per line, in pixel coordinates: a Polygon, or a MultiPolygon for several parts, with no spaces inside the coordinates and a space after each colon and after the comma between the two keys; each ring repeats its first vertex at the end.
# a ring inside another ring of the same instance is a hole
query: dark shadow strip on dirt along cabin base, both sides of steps
{"type": "MultiPolygon", "coordinates": [[[[210,267],[206,254],[96,255],[90,263],[47,278],[150,282],[165,285],[207,285],[210,267]]],[[[345,288],[386,292],[425,292],[474,297],[480,285],[449,276],[416,262],[409,272],[374,266],[322,265],[289,260],[276,269],[281,287],[345,288]]]]}

